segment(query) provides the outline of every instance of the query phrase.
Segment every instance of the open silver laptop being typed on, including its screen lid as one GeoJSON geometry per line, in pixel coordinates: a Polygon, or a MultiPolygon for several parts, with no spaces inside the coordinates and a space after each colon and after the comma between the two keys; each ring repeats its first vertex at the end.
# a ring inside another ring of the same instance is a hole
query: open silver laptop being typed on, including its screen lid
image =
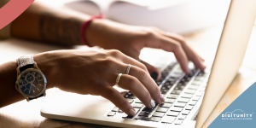
{"type": "Polygon", "coordinates": [[[127,92],[125,99],[137,112],[130,117],[102,96],[61,91],[44,105],[41,115],[116,127],[200,128],[241,67],[255,16],[256,0],[231,1],[212,66],[205,71],[190,67],[192,73],[184,74],[176,61],[168,63],[155,81],[166,101],[154,108],[145,108],[127,92]]]}

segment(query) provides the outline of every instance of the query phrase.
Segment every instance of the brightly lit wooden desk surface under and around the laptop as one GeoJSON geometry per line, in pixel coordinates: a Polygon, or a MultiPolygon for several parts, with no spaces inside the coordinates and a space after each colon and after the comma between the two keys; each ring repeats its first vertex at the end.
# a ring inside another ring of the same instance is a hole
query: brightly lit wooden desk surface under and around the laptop
{"type": "MultiPolygon", "coordinates": [[[[218,39],[214,40],[217,29],[212,29],[212,31],[202,31],[195,33],[193,35],[186,36],[189,44],[192,44],[195,49],[202,53],[212,48],[211,42],[216,42],[218,39]],[[211,41],[209,41],[209,38],[211,41]],[[202,49],[204,48],[204,49],[202,49]],[[207,48],[207,49],[206,49],[207,48]]],[[[250,39],[249,47],[247,49],[247,54],[241,66],[239,73],[234,79],[233,83],[230,84],[228,90],[226,90],[222,99],[218,102],[218,105],[214,108],[211,115],[208,117],[207,121],[203,127],[207,127],[211,122],[221,113],[224,108],[227,108],[231,102],[233,102],[236,97],[241,95],[241,93],[246,90],[251,84],[255,82],[256,78],[256,32],[253,30],[252,38],[250,39]]],[[[215,44],[216,46],[216,44],[215,44]]],[[[65,48],[57,46],[49,46],[44,44],[29,43],[26,41],[20,41],[17,39],[9,39],[7,41],[0,41],[0,64],[5,61],[13,60],[20,55],[36,54],[39,52],[44,52],[48,50],[55,49],[88,49],[86,47],[75,47],[75,48],[65,48]],[[22,50],[20,50],[22,49],[22,50]]],[[[203,55],[203,57],[205,57],[203,55]]],[[[59,128],[95,128],[95,127],[108,127],[102,125],[90,125],[84,123],[76,123],[69,121],[61,121],[55,119],[45,119],[40,115],[40,109],[42,108],[44,102],[47,102],[52,96],[54,96],[59,90],[50,89],[47,90],[47,96],[44,98],[39,98],[38,100],[33,100],[31,102],[21,101],[16,102],[4,108],[0,108],[0,128],[15,128],[15,127],[59,127],[59,128]]]]}

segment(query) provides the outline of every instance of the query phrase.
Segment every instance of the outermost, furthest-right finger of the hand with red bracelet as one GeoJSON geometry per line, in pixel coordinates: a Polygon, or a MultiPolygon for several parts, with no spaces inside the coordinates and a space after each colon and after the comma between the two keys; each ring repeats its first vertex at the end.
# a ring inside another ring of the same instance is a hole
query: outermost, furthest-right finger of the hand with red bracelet
{"type": "Polygon", "coordinates": [[[189,60],[192,61],[195,64],[195,67],[204,70],[205,66],[203,64],[203,59],[200,55],[198,55],[194,49],[192,49],[189,44],[186,43],[185,39],[177,34],[171,33],[171,32],[161,32],[163,35],[165,35],[168,38],[172,38],[174,40],[177,40],[180,44],[182,44],[183,49],[188,56],[189,60]]]}

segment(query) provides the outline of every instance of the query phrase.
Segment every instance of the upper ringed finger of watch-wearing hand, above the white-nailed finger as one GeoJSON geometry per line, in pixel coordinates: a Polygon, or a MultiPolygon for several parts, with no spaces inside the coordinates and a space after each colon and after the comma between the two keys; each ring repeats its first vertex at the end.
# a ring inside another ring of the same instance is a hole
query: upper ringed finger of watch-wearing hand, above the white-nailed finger
{"type": "Polygon", "coordinates": [[[150,96],[154,102],[161,103],[165,100],[161,97],[160,89],[157,84],[155,84],[154,79],[151,79],[148,73],[145,73],[139,67],[131,66],[129,75],[137,78],[143,86],[148,90],[150,96]]]}

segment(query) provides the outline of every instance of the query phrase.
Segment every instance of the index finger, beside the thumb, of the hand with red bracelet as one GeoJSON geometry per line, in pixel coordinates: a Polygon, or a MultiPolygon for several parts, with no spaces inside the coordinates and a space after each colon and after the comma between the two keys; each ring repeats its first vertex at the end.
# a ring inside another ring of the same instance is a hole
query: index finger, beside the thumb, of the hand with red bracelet
{"type": "Polygon", "coordinates": [[[179,42],[172,38],[167,38],[165,36],[160,35],[160,49],[164,49],[166,51],[173,52],[175,55],[177,61],[179,62],[179,65],[183,69],[184,73],[189,73],[189,67],[188,67],[188,57],[185,54],[183,47],[179,42]]]}

